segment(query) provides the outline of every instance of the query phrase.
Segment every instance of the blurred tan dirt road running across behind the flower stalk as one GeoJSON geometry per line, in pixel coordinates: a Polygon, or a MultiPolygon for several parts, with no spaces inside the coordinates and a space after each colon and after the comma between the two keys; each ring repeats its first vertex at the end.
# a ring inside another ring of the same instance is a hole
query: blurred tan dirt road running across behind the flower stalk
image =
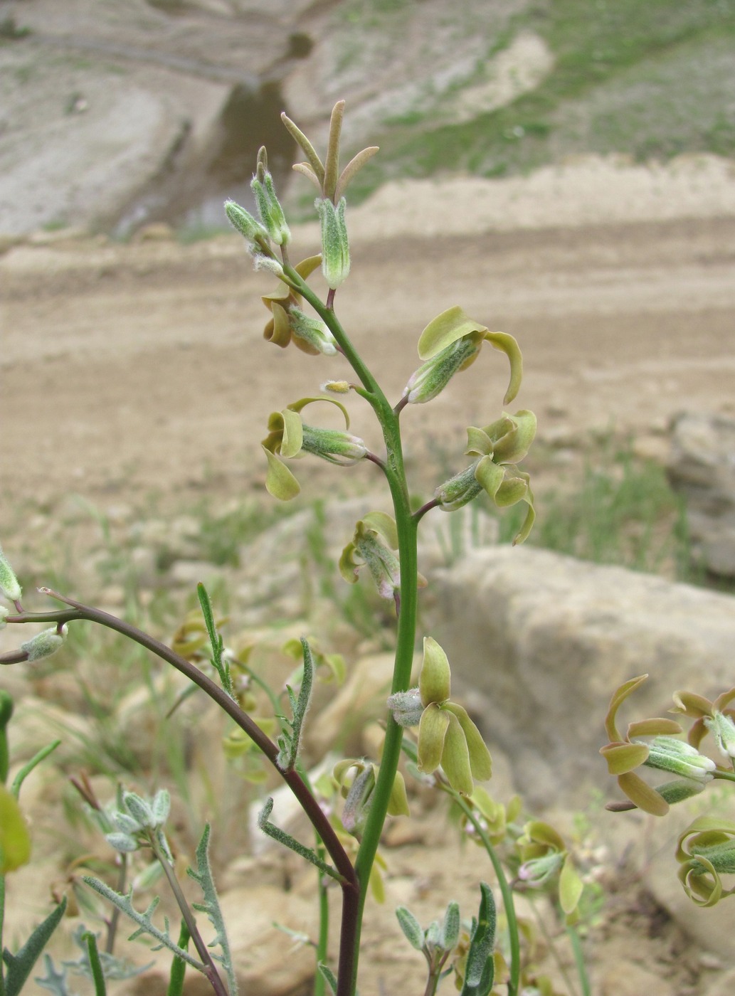
{"type": "MultiPolygon", "coordinates": [[[[392,239],[356,247],[338,310],[389,396],[417,365],[424,324],[458,303],[519,339],[517,403],[537,411],[542,439],[611,425],[640,435],[684,407],[735,410],[734,263],[735,219],[392,239]]],[[[11,502],[237,492],[262,473],[268,412],[346,375],[339,358],[262,341],[272,281],[236,239],[21,246],[0,277],[11,502]]],[[[486,354],[405,413],[409,447],[430,435],[454,449],[453,433],[496,417],[507,370],[486,354]]],[[[359,410],[354,427],[370,438],[359,410]]]]}

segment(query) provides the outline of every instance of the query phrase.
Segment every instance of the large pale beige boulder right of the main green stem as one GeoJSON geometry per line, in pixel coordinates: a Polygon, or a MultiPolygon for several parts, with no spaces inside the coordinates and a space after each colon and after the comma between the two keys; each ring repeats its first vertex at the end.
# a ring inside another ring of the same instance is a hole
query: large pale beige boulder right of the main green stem
{"type": "Polygon", "coordinates": [[[649,679],[628,719],[665,715],[671,693],[735,683],[735,600],[533,548],[470,553],[436,572],[431,633],[492,745],[535,804],[614,794],[600,747],[614,689],[649,679]]]}

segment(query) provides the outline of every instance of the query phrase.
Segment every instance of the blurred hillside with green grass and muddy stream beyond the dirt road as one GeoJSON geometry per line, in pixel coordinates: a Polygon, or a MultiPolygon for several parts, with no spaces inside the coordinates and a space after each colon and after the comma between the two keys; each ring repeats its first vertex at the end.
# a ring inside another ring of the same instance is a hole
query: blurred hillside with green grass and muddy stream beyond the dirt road
{"type": "MultiPolygon", "coordinates": [[[[286,110],[396,176],[735,154],[735,0],[4,0],[0,233],[217,227],[286,110]]],[[[292,209],[309,205],[298,184],[292,209]],[[297,201],[301,198],[304,203],[297,201]]]]}

